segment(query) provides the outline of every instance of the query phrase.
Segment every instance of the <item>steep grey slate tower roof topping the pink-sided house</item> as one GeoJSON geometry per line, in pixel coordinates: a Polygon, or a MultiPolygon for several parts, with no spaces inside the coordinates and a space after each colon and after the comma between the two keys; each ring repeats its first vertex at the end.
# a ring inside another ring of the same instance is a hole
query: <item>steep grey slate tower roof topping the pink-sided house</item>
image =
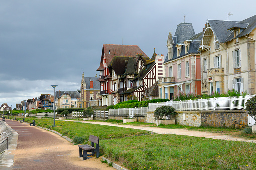
{"type": "MultiPolygon", "coordinates": [[[[183,43],[184,40],[188,40],[190,37],[195,35],[194,28],[192,23],[180,23],[177,25],[174,36],[177,37],[177,42],[174,43],[183,43]]],[[[175,38],[176,39],[176,38],[175,38]]]]}

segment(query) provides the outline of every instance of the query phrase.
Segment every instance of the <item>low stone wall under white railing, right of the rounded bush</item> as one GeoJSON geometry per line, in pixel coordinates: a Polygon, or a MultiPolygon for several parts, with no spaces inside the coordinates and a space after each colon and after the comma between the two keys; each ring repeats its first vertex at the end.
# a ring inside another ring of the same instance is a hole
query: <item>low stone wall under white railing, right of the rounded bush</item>
{"type": "Polygon", "coordinates": [[[177,111],[176,122],[186,126],[235,127],[248,125],[245,110],[177,111]]]}

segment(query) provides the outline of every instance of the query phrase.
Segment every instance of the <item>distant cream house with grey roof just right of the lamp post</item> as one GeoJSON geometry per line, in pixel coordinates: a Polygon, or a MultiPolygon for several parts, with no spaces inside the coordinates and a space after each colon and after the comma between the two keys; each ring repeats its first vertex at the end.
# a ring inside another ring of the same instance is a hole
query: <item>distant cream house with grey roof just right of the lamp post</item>
{"type": "MultiPolygon", "coordinates": [[[[77,108],[78,91],[56,91],[56,108],[77,108]]],[[[53,100],[53,99],[52,99],[53,100]]]]}

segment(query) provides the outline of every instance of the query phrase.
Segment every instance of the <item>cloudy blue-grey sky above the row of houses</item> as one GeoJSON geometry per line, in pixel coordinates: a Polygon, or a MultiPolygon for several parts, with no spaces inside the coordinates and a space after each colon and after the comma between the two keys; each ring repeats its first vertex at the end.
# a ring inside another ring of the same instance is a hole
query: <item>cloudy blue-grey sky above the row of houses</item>
{"type": "Polygon", "coordinates": [[[80,89],[99,72],[102,44],[138,45],[167,54],[178,24],[203,31],[208,19],[241,21],[255,1],[0,0],[0,104],[80,89]]]}

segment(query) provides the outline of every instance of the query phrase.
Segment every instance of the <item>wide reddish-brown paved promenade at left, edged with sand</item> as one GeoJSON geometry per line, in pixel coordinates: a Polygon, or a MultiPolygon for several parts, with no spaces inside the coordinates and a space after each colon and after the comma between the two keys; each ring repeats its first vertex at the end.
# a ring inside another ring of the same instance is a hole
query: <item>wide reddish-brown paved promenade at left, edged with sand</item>
{"type": "Polygon", "coordinates": [[[78,146],[55,133],[20,121],[6,123],[19,134],[13,169],[113,169],[101,158],[83,161],[78,146]]]}

